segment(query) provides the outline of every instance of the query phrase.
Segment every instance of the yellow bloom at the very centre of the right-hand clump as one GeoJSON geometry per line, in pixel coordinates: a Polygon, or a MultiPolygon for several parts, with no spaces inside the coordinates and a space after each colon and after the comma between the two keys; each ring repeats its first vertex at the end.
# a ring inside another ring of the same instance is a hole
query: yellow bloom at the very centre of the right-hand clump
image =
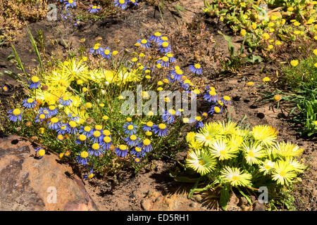
{"type": "Polygon", "coordinates": [[[249,165],[260,164],[260,159],[266,157],[266,153],[259,143],[244,143],[242,149],[245,153],[244,158],[249,165]]]}

